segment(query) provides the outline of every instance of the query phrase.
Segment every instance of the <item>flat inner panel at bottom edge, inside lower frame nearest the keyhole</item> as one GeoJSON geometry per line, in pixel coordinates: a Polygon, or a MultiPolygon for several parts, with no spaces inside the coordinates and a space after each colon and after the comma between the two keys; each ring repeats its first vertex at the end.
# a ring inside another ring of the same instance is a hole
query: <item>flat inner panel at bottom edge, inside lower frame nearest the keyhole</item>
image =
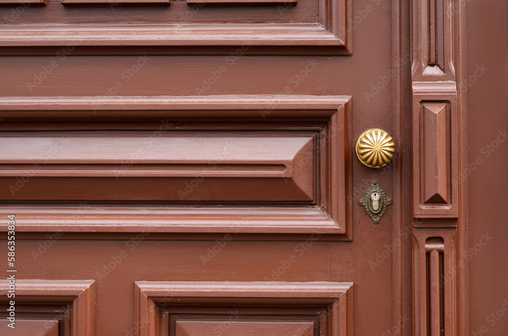
{"type": "Polygon", "coordinates": [[[314,335],[313,321],[177,320],[174,336],[314,335]]]}

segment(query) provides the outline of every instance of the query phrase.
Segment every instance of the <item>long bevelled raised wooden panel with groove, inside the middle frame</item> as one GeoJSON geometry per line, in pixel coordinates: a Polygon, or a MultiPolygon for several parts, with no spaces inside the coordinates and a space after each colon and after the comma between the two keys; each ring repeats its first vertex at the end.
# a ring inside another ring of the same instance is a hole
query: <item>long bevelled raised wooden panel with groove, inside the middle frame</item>
{"type": "Polygon", "coordinates": [[[0,136],[4,200],[314,201],[314,138],[154,132],[0,136]],[[23,185],[21,185],[19,183],[23,185]]]}

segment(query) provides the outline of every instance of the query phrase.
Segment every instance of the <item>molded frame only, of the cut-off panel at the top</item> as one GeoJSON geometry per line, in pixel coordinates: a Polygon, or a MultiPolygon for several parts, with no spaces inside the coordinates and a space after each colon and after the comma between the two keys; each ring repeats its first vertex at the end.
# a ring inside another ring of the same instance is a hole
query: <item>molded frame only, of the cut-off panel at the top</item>
{"type": "MultiPolygon", "coordinates": [[[[84,0],[72,1],[84,2],[84,0]]],[[[217,47],[248,46],[267,47],[267,54],[292,52],[315,54],[316,48],[322,50],[317,54],[351,54],[352,0],[318,1],[319,15],[317,22],[314,23],[6,25],[0,27],[0,44],[4,47],[68,45],[211,47],[213,53],[231,52],[228,48],[220,52],[217,47]],[[312,48],[313,50],[298,48],[307,46],[315,48],[312,48]],[[333,49],[327,49],[330,47],[333,49]],[[280,50],[276,51],[275,48],[280,50]]],[[[68,4],[68,1],[65,4],[68,4]]],[[[175,51],[168,49],[167,52],[175,51]]]]}

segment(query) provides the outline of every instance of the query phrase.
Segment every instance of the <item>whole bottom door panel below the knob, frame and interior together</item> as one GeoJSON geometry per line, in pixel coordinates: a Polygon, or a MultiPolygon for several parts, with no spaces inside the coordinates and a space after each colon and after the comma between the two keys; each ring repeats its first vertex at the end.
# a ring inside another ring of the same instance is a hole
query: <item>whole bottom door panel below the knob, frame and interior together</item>
{"type": "Polygon", "coordinates": [[[187,334],[185,329],[197,335],[201,328],[213,325],[227,327],[228,334],[244,334],[245,328],[280,332],[286,327],[281,328],[280,323],[291,322],[298,332],[312,326],[312,334],[316,329],[319,334],[353,334],[353,283],[138,281],[135,306],[139,336],[182,336],[187,334]],[[227,308],[226,313],[221,307],[227,308]],[[232,307],[242,312],[232,318],[232,307]],[[299,309],[305,309],[307,317],[298,315],[299,309]],[[315,312],[309,313],[312,309],[315,312]],[[204,312],[219,317],[206,319],[204,312]],[[260,320],[260,314],[277,318],[270,323],[266,317],[260,320]],[[299,316],[297,325],[293,315],[299,316]],[[239,333],[231,333],[232,329],[239,333]]]}

